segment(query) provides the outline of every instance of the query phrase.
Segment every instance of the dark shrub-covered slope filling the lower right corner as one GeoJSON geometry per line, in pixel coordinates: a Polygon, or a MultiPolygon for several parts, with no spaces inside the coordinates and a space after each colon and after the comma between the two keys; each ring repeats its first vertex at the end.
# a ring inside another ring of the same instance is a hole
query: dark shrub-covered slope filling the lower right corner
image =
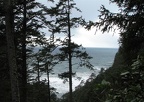
{"type": "MultiPolygon", "coordinates": [[[[73,92],[74,102],[143,102],[144,53],[137,56],[128,65],[120,48],[112,67],[102,69],[95,79],[73,92]]],[[[62,102],[67,101],[66,94],[62,102]]]]}

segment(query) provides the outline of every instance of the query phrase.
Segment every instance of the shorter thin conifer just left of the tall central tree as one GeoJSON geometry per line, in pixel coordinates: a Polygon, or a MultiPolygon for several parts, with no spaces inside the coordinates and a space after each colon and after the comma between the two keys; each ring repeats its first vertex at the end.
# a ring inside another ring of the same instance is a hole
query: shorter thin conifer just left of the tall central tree
{"type": "Polygon", "coordinates": [[[47,98],[49,102],[53,100],[54,95],[54,88],[50,86],[50,73],[52,73],[54,66],[60,62],[58,60],[59,55],[55,53],[55,50],[59,46],[59,41],[59,39],[54,39],[54,35],[52,34],[45,44],[38,48],[38,51],[33,56],[34,62],[32,62],[32,72],[36,72],[37,84],[41,84],[43,81],[41,79],[42,75],[47,76],[45,81],[47,82],[47,98]]]}

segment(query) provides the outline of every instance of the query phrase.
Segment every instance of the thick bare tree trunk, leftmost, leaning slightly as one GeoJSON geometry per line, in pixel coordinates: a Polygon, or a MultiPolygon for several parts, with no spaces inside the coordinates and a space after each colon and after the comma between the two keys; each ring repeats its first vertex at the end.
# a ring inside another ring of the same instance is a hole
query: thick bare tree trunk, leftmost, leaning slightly
{"type": "Polygon", "coordinates": [[[4,0],[5,5],[5,23],[6,23],[6,38],[7,38],[7,53],[10,69],[11,93],[12,102],[20,102],[18,72],[16,62],[16,52],[14,45],[14,16],[12,0],[4,0]]]}

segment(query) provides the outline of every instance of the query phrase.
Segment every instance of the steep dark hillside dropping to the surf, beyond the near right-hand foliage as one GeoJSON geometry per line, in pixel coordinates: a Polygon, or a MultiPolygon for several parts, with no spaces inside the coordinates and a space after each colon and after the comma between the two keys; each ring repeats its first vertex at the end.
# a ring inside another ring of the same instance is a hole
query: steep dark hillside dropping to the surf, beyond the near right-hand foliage
{"type": "MultiPolygon", "coordinates": [[[[74,91],[75,102],[104,102],[110,93],[111,87],[119,88],[118,81],[120,73],[124,70],[123,57],[118,52],[112,67],[107,70],[101,70],[99,75],[92,81],[87,81],[84,86],[78,87],[74,91]]],[[[67,95],[64,95],[63,101],[67,101],[67,95]]]]}

